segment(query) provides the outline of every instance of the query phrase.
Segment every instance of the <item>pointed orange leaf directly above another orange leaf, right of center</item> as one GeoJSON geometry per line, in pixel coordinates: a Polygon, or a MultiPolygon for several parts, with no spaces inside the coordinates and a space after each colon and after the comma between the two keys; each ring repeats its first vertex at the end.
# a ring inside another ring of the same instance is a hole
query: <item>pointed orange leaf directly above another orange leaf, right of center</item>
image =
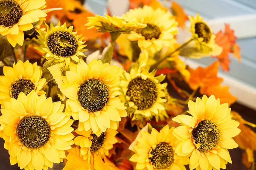
{"type": "Polygon", "coordinates": [[[212,63],[206,68],[198,67],[191,73],[189,79],[189,86],[193,90],[200,89],[201,94],[205,94],[208,87],[219,85],[222,82],[222,78],[217,77],[218,73],[218,61],[212,63]]]}

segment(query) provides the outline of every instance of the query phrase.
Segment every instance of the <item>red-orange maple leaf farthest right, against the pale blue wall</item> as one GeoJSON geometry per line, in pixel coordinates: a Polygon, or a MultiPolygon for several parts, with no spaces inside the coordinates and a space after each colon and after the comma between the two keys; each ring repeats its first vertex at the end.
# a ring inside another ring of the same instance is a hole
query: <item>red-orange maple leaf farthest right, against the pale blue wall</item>
{"type": "Polygon", "coordinates": [[[219,31],[216,34],[215,42],[222,47],[222,52],[216,57],[224,71],[229,71],[230,58],[229,54],[233,53],[233,56],[241,60],[240,48],[236,44],[236,36],[234,35],[234,30],[230,28],[228,24],[225,24],[224,32],[219,31]]]}

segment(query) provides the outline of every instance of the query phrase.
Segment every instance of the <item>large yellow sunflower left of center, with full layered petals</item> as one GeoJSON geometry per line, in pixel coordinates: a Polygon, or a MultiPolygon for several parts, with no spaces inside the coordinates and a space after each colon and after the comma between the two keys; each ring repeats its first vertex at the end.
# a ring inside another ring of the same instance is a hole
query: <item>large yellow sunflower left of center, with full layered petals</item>
{"type": "Polygon", "coordinates": [[[117,129],[121,117],[127,116],[119,97],[121,68],[96,59],[88,65],[70,63],[63,77],[62,92],[69,98],[66,113],[79,120],[78,130],[90,130],[100,136],[106,129],[117,129]]]}

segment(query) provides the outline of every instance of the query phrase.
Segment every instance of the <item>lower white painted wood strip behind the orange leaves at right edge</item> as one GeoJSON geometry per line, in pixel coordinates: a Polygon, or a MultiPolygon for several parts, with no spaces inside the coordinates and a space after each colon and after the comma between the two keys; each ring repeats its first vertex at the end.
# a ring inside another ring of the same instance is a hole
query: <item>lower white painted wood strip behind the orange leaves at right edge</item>
{"type": "MultiPolygon", "coordinates": [[[[205,65],[200,65],[198,62],[189,59],[186,59],[185,63],[193,69],[197,68],[198,66],[205,67],[205,65]]],[[[218,73],[218,77],[224,79],[221,85],[227,85],[230,87],[230,93],[237,97],[237,102],[249,108],[256,109],[256,88],[253,88],[237,79],[228,77],[222,73],[218,73]]]]}

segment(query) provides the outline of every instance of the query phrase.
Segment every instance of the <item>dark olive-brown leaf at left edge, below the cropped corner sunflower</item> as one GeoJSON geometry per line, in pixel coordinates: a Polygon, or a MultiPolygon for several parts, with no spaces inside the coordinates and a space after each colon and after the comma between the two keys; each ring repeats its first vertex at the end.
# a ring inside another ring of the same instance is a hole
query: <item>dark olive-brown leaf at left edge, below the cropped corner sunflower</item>
{"type": "Polygon", "coordinates": [[[12,56],[12,46],[5,36],[0,35],[0,61],[12,56]]]}

